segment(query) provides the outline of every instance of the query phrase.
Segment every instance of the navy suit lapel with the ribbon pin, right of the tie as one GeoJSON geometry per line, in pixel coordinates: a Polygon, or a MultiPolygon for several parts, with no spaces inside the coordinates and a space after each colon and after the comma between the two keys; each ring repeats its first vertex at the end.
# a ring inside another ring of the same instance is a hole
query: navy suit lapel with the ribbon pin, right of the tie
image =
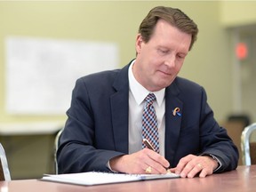
{"type": "Polygon", "coordinates": [[[179,90],[174,82],[165,90],[165,158],[171,165],[178,145],[183,109],[178,94],[179,90]],[[180,116],[172,114],[174,108],[180,108],[180,116]]]}

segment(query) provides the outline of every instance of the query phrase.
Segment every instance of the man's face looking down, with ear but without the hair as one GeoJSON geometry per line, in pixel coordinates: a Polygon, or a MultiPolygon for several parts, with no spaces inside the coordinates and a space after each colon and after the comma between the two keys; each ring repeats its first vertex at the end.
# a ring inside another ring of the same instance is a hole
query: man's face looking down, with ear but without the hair
{"type": "Polygon", "coordinates": [[[158,20],[155,32],[146,44],[136,39],[137,58],[132,68],[137,81],[150,92],[172,84],[188,54],[191,35],[158,20]]]}

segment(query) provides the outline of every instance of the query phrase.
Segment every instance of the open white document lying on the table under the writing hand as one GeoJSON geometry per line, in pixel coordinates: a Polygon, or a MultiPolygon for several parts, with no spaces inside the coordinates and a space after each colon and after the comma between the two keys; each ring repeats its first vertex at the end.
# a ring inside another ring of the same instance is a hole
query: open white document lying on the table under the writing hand
{"type": "Polygon", "coordinates": [[[41,180],[63,182],[76,185],[101,185],[108,183],[131,182],[139,180],[159,180],[179,178],[180,175],[166,174],[125,174],[112,172],[80,172],[68,174],[45,174],[41,180]]]}

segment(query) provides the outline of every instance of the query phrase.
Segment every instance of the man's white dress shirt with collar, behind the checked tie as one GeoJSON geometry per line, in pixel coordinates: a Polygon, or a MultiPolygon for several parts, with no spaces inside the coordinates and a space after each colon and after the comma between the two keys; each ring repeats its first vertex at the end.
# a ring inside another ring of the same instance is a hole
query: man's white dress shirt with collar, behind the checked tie
{"type": "MultiPolygon", "coordinates": [[[[145,105],[144,99],[147,97],[149,91],[145,89],[133,76],[132,64],[129,68],[129,154],[137,152],[142,149],[142,112],[145,105]]],[[[164,133],[165,133],[165,89],[158,92],[152,92],[156,95],[156,101],[153,106],[156,110],[158,133],[159,133],[159,149],[160,154],[164,156],[164,133]]]]}

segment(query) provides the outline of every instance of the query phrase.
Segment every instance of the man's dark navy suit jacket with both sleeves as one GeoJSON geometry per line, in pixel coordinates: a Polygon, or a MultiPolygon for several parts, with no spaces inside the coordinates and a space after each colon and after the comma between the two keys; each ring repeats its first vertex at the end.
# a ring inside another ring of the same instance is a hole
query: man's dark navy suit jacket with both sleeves
{"type": "MultiPolygon", "coordinates": [[[[128,154],[128,68],[76,81],[68,120],[60,137],[59,172],[109,171],[114,156],[128,154]]],[[[188,154],[212,154],[218,172],[236,169],[237,148],[217,124],[204,88],[176,77],[165,90],[165,158],[175,167],[188,154]],[[180,108],[181,116],[172,110],[180,108]]]]}

